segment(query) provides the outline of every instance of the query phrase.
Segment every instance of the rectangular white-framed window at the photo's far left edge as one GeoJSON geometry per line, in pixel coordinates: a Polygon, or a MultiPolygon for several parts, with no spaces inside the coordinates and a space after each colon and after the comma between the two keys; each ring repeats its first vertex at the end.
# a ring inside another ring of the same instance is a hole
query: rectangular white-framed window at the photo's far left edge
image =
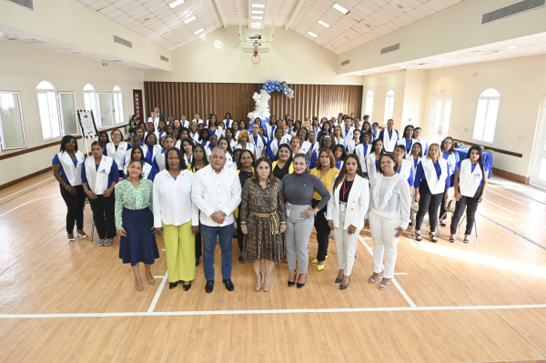
{"type": "Polygon", "coordinates": [[[26,147],[23,107],[19,92],[0,91],[0,149],[26,147]]]}

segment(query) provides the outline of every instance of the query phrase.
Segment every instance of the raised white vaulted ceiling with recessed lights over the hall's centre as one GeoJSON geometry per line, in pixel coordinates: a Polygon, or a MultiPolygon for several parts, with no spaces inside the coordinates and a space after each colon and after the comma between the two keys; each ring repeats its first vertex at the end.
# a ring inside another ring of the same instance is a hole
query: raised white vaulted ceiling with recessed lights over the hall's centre
{"type": "Polygon", "coordinates": [[[462,0],[186,0],[174,9],[168,6],[174,0],[77,1],[169,50],[221,26],[239,22],[248,25],[250,19],[262,26],[289,26],[339,55],[462,0]],[[253,3],[266,6],[253,8],[253,3]],[[349,14],[334,9],[336,3],[349,10],[349,14]],[[251,14],[252,10],[264,14],[251,14]],[[263,19],[252,19],[252,15],[263,19]],[[192,16],[197,19],[184,24],[192,16]],[[329,28],[319,25],[319,20],[330,25],[329,28]],[[205,30],[194,35],[201,28],[205,30]],[[318,36],[308,35],[308,31],[318,36]]]}

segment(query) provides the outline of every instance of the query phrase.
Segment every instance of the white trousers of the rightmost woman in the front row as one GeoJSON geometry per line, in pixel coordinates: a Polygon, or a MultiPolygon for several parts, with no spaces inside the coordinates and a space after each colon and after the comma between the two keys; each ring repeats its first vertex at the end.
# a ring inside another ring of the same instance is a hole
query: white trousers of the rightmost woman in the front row
{"type": "Polygon", "coordinates": [[[369,231],[373,240],[373,272],[382,270],[383,250],[385,251],[385,275],[384,278],[394,277],[396,265],[397,245],[399,238],[395,237],[397,227],[400,227],[400,218],[385,218],[369,212],[369,231]]]}

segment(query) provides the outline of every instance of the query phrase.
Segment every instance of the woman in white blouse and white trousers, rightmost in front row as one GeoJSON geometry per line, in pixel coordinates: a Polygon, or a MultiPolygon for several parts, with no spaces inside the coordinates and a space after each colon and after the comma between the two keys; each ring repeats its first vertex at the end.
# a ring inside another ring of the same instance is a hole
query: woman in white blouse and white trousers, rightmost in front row
{"type": "Polygon", "coordinates": [[[379,157],[379,172],[371,183],[369,231],[373,240],[373,275],[368,282],[374,284],[383,277],[379,289],[384,290],[394,277],[397,245],[402,232],[410,223],[410,185],[397,173],[399,168],[392,154],[379,157]],[[385,271],[381,264],[385,251],[385,271]]]}

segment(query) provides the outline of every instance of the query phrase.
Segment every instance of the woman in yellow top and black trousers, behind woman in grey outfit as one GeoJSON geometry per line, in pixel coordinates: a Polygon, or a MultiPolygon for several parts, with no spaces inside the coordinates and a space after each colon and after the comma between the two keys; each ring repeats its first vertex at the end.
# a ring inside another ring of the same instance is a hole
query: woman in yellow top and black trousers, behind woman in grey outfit
{"type": "MultiPolygon", "coordinates": [[[[324,187],[331,190],[334,184],[334,179],[339,174],[339,169],[336,167],[336,159],[332,152],[327,148],[321,148],[319,155],[317,156],[317,167],[311,169],[311,174],[319,177],[324,187]]],[[[322,199],[319,193],[315,192],[311,207],[317,207],[320,199],[322,199]]],[[[317,258],[313,260],[314,264],[319,264],[317,269],[322,271],[324,269],[324,262],[328,258],[328,243],[330,228],[326,221],[327,207],[323,207],[319,210],[315,216],[315,230],[317,231],[317,241],[319,242],[319,251],[317,252],[317,258]]]]}

